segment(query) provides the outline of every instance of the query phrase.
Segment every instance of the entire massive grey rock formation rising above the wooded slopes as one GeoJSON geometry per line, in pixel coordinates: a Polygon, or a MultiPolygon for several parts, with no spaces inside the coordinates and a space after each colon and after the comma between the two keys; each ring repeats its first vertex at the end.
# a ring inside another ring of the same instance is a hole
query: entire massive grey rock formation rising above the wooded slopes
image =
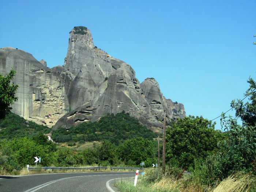
{"type": "Polygon", "coordinates": [[[165,99],[153,78],[140,84],[130,65],[95,47],[86,27],[70,32],[64,67],[49,69],[44,60],[12,48],[0,49],[0,58],[0,74],[17,71],[13,112],[37,123],[69,128],[125,111],[155,129],[162,127],[164,110],[167,121],[185,116],[184,106],[165,99]]]}

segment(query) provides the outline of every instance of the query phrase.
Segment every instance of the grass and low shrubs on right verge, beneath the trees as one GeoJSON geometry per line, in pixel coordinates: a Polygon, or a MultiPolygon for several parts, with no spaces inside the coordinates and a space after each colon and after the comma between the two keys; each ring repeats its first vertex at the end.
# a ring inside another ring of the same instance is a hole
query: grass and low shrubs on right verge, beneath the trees
{"type": "Polygon", "coordinates": [[[199,182],[193,174],[184,174],[184,170],[168,167],[165,176],[159,170],[146,170],[144,177],[138,177],[136,187],[133,180],[116,180],[115,186],[121,192],[255,192],[255,176],[251,173],[231,174],[222,181],[212,184],[199,182]]]}

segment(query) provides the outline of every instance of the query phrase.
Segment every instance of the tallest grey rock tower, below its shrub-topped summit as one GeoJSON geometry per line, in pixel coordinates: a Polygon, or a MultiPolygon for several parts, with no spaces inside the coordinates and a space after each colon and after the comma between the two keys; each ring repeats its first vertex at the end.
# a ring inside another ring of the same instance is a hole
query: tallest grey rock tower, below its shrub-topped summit
{"type": "Polygon", "coordinates": [[[99,97],[106,89],[105,78],[124,63],[96,48],[91,31],[85,32],[80,35],[71,31],[65,58],[64,67],[75,75],[67,93],[71,110],[99,97]]]}

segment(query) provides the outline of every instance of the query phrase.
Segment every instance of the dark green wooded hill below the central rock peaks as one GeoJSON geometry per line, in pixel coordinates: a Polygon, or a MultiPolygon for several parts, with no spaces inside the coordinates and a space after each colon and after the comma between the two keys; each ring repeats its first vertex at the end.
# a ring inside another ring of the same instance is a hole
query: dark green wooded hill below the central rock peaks
{"type": "Polygon", "coordinates": [[[52,139],[58,143],[110,140],[114,144],[120,144],[134,137],[152,140],[157,135],[128,113],[108,114],[97,122],[84,122],[68,131],[58,128],[52,132],[52,139]]]}

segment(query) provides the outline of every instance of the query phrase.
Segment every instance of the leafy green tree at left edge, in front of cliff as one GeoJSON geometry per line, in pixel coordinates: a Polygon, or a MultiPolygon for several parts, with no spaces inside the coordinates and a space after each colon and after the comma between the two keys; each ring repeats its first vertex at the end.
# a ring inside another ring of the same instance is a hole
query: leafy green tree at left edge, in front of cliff
{"type": "Polygon", "coordinates": [[[18,98],[15,97],[18,85],[11,83],[15,73],[16,71],[11,69],[6,77],[0,75],[0,119],[3,119],[11,111],[10,105],[18,101],[18,98]]]}

